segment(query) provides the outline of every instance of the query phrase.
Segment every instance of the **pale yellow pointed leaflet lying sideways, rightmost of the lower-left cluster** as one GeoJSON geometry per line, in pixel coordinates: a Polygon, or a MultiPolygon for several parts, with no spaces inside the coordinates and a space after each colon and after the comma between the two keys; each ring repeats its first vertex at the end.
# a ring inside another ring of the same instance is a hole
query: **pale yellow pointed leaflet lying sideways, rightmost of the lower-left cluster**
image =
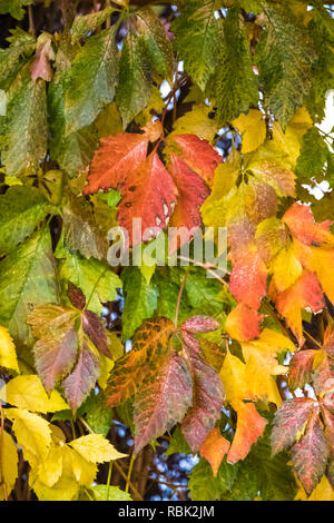
{"type": "Polygon", "coordinates": [[[104,463],[119,460],[127,454],[121,454],[101,434],[88,434],[69,443],[85,460],[91,463],[104,463]]]}

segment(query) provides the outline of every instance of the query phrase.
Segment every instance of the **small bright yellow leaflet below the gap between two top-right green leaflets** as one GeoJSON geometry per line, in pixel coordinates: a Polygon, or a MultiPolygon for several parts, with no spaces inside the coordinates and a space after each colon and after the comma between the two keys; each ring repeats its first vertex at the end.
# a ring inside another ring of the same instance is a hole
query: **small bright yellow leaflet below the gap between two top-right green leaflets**
{"type": "Polygon", "coordinates": [[[243,155],[257,149],[266,139],[267,130],[264,115],[258,109],[249,109],[247,115],[242,114],[232,124],[243,135],[243,155]]]}

